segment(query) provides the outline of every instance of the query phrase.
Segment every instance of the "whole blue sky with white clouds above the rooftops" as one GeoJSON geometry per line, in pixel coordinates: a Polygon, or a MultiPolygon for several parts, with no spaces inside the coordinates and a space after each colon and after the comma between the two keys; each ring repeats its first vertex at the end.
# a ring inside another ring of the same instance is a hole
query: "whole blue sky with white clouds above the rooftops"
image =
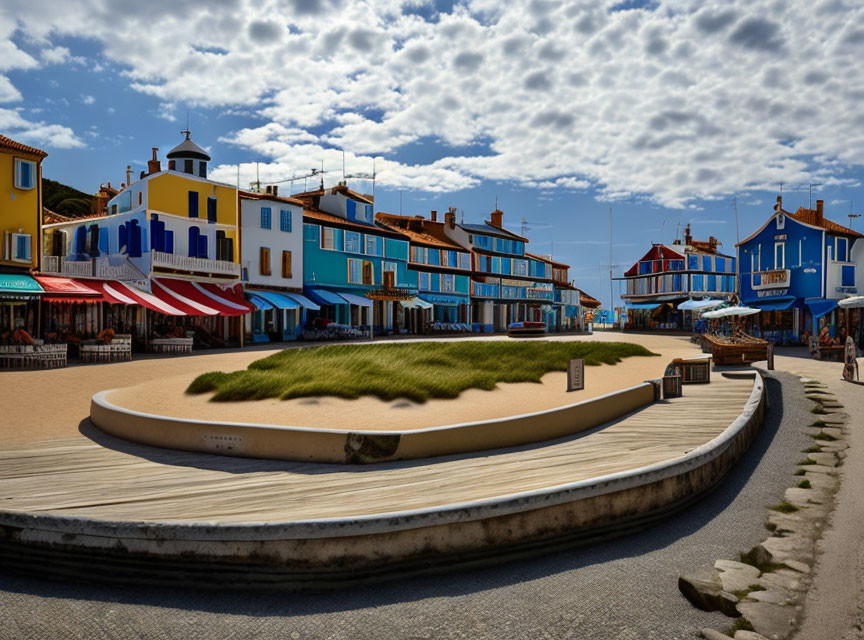
{"type": "Polygon", "coordinates": [[[781,183],[864,209],[862,59],[859,0],[4,0],[0,132],[88,192],[187,118],[243,186],[374,159],[378,209],[497,198],[608,300],[610,206],[624,268],[679,223],[733,252],[781,183]]]}

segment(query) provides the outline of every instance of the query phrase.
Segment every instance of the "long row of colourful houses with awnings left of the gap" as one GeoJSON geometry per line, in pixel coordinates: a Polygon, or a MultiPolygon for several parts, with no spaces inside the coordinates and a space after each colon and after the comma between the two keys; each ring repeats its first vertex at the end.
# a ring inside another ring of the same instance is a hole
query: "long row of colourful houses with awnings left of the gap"
{"type": "Polygon", "coordinates": [[[102,211],[45,214],[46,154],[0,136],[0,333],[106,328],[203,345],[403,333],[488,333],[514,322],[584,329],[599,302],[566,264],[527,250],[495,210],[482,224],[374,210],[345,183],[291,196],[208,177],[184,132],[162,166],[100,190],[102,211]],[[6,201],[8,194],[8,201],[6,201]],[[8,309],[7,309],[8,307],[8,309]]]}

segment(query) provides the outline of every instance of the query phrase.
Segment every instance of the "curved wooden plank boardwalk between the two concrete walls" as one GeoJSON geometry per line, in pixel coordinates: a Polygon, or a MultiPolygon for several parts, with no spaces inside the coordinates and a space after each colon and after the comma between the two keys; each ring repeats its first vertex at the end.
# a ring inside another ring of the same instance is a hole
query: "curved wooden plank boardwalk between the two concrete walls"
{"type": "Polygon", "coordinates": [[[0,452],[0,509],[125,521],[296,521],[493,498],[683,455],[742,411],[751,379],[712,374],[685,396],[550,443],[429,460],[334,466],[62,438],[0,452]]]}

